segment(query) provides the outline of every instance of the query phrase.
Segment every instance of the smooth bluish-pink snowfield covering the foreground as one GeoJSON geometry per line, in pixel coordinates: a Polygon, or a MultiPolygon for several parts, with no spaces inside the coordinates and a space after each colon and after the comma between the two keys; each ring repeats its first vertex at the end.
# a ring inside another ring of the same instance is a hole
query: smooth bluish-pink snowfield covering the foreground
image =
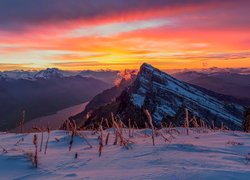
{"type": "MultiPolygon", "coordinates": [[[[0,179],[249,179],[250,134],[234,131],[178,128],[160,130],[161,135],[152,145],[149,129],[136,130],[129,138],[129,149],[113,145],[113,129],[108,145],[99,157],[98,133],[81,131],[74,137],[71,151],[71,134],[52,131],[47,154],[44,146],[38,152],[38,168],[32,166],[27,154],[34,153],[34,134],[0,134],[0,179]],[[179,134],[180,133],[180,134],[179,134]],[[170,135],[171,134],[171,135],[170,135]],[[85,137],[82,138],[82,137],[85,137]],[[86,142],[86,139],[89,144],[86,142]],[[23,140],[23,141],[22,141],[23,140]],[[7,151],[7,152],[6,152],[7,151]],[[77,153],[77,158],[75,157],[77,153]]],[[[38,135],[38,150],[41,133],[38,135]]],[[[157,133],[156,133],[157,134],[157,133]]]]}

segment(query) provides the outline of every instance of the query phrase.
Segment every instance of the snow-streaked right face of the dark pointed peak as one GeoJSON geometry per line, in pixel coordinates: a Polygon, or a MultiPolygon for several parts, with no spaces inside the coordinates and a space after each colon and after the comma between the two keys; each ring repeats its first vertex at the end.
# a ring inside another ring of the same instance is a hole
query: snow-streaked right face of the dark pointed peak
{"type": "Polygon", "coordinates": [[[186,106],[194,115],[202,119],[207,117],[206,113],[201,111],[213,114],[215,117],[210,122],[218,119],[217,121],[234,124],[238,128],[241,126],[242,119],[234,113],[243,114],[244,107],[237,104],[226,105],[149,64],[141,66],[134,86],[136,88],[131,95],[132,103],[141,108],[145,106],[146,101],[149,101],[148,106],[153,110],[156,123],[160,123],[166,116],[175,116],[179,107],[186,106]]]}

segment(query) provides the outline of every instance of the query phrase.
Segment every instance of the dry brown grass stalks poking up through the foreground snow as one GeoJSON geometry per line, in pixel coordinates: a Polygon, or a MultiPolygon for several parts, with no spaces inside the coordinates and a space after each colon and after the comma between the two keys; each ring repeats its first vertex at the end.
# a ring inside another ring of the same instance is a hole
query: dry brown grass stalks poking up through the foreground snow
{"type": "MultiPolygon", "coordinates": [[[[144,113],[147,117],[148,122],[145,122],[145,128],[150,127],[151,128],[151,138],[152,138],[152,144],[153,146],[155,146],[155,139],[156,138],[161,138],[163,139],[165,142],[167,143],[171,143],[176,136],[180,135],[180,134],[186,134],[189,135],[189,133],[207,133],[209,132],[208,126],[207,124],[205,124],[204,121],[200,120],[200,119],[196,119],[196,117],[194,116],[191,120],[189,120],[189,112],[187,109],[185,109],[185,120],[184,120],[184,128],[182,129],[178,129],[175,128],[171,123],[169,124],[169,126],[167,126],[165,124],[165,127],[163,124],[161,124],[161,128],[160,129],[156,129],[154,127],[153,124],[153,119],[152,116],[150,114],[150,112],[148,110],[144,110],[144,113]],[[192,126],[194,128],[190,128],[190,126],[192,126]],[[190,129],[189,129],[190,128],[190,129]]],[[[75,136],[79,136],[80,138],[82,138],[87,145],[92,148],[93,146],[88,142],[87,138],[85,137],[85,135],[83,133],[77,132],[77,126],[75,121],[65,121],[65,125],[66,125],[66,133],[70,136],[70,142],[69,142],[69,151],[71,151],[73,143],[74,143],[74,137],[75,136]]],[[[43,139],[44,139],[44,135],[43,135],[43,131],[40,128],[34,128],[35,130],[39,131],[41,133],[41,141],[40,141],[40,151],[42,151],[43,148],[43,139]]],[[[131,121],[129,119],[128,121],[128,127],[126,127],[126,125],[117,117],[114,116],[113,113],[111,113],[111,121],[108,121],[108,119],[104,119],[102,118],[99,127],[98,128],[94,128],[93,126],[93,134],[92,135],[98,135],[98,155],[99,157],[102,156],[103,154],[103,149],[104,149],[104,145],[108,145],[110,138],[110,136],[114,136],[114,143],[113,145],[120,145],[122,147],[125,147],[126,149],[130,149],[132,146],[131,144],[133,144],[132,141],[130,141],[130,139],[132,139],[134,136],[137,135],[136,129],[139,129],[136,121],[131,121]],[[133,122],[133,123],[132,123],[133,122]],[[104,126],[103,126],[104,125],[104,126]],[[112,128],[113,133],[110,131],[104,131],[103,128],[112,128]],[[128,131],[125,131],[124,128],[127,128],[128,131]],[[135,133],[134,133],[135,132],[135,133]]],[[[212,125],[211,125],[211,129],[215,130],[216,127],[214,125],[214,121],[212,121],[212,125]]],[[[225,130],[226,127],[223,125],[223,123],[221,124],[221,128],[218,130],[225,130]]],[[[21,131],[22,132],[22,131],[21,131]]],[[[45,151],[44,154],[47,153],[47,149],[48,149],[48,143],[49,143],[49,138],[50,138],[50,128],[49,126],[47,126],[47,140],[45,143],[45,151]]],[[[150,135],[145,136],[150,137],[150,135]]],[[[55,140],[57,142],[60,142],[60,139],[55,138],[55,140]]],[[[158,139],[159,140],[159,139],[158,139]]],[[[19,145],[20,142],[24,141],[23,138],[19,139],[17,141],[17,143],[15,145],[19,145]]],[[[28,157],[31,158],[32,160],[32,164],[34,167],[38,167],[38,136],[35,134],[33,137],[33,144],[35,146],[35,151],[34,153],[26,153],[28,154],[28,157]]],[[[242,143],[239,142],[234,142],[234,141],[228,141],[227,142],[228,145],[243,145],[242,143]]],[[[108,146],[107,146],[108,147],[108,146]]],[[[7,149],[5,149],[3,146],[0,146],[0,148],[2,149],[2,151],[4,153],[8,153],[7,149]]],[[[106,147],[105,147],[106,148],[106,147]]],[[[40,156],[39,156],[40,157],[40,156]]],[[[78,158],[78,153],[74,154],[74,158],[77,159],[78,158]]],[[[250,162],[250,154],[248,154],[246,156],[246,160],[247,163],[250,162]]]]}

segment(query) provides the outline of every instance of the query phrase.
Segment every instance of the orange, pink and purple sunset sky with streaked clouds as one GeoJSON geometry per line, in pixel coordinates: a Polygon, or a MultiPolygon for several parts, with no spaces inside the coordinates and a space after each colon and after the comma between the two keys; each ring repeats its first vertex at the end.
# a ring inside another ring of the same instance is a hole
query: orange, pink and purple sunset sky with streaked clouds
{"type": "Polygon", "coordinates": [[[0,0],[0,70],[250,67],[249,0],[0,0]]]}

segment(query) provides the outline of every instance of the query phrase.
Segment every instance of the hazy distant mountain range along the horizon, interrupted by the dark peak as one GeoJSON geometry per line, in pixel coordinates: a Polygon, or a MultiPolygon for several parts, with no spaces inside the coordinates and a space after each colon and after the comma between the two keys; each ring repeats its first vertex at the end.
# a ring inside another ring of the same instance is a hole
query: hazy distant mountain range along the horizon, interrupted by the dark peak
{"type": "MultiPolygon", "coordinates": [[[[250,94],[248,93],[250,88],[249,68],[222,69],[214,67],[192,71],[185,69],[176,71],[174,71],[174,73],[172,72],[171,75],[179,80],[220,94],[230,95],[240,99],[248,99],[250,102],[250,94]]],[[[0,80],[24,79],[35,81],[51,76],[70,77],[77,75],[98,79],[110,85],[113,85],[115,80],[120,78],[119,72],[112,70],[63,71],[57,68],[48,68],[42,71],[4,71],[0,72],[0,80]]],[[[250,106],[250,103],[248,105],[250,106]]]]}

